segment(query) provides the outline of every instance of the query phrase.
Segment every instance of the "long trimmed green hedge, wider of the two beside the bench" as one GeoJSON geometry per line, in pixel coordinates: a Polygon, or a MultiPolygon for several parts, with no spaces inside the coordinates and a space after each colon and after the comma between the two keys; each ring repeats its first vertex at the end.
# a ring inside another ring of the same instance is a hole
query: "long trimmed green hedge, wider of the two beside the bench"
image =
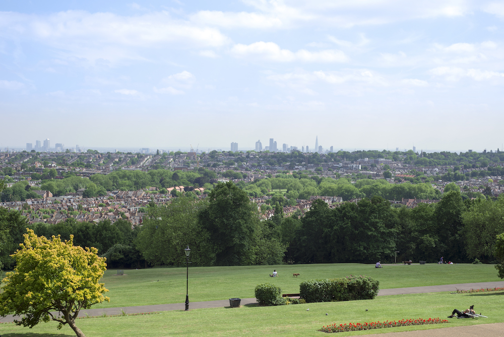
{"type": "Polygon", "coordinates": [[[374,278],[350,275],[305,281],[299,285],[299,293],[307,303],[372,300],[378,295],[379,286],[379,280],[374,278]]]}

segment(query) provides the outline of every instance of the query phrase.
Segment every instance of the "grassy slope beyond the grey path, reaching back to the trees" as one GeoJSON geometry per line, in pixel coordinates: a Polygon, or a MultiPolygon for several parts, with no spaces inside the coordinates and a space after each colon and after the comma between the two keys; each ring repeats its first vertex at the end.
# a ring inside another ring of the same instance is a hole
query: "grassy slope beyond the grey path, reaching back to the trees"
{"type": "MultiPolygon", "coordinates": [[[[93,308],[125,307],[185,301],[185,268],[151,268],[107,270],[102,282],[110,290],[110,302],[93,308]]],[[[260,283],[273,283],[283,293],[299,293],[299,284],[314,278],[343,277],[350,274],[368,275],[380,280],[380,288],[404,288],[444,285],[452,283],[490,282],[500,280],[493,265],[374,265],[357,263],[300,264],[278,266],[190,267],[190,302],[223,300],[232,297],[254,297],[254,289],[260,283]],[[279,277],[268,275],[277,269],[279,277]],[[293,277],[293,273],[300,273],[293,277]]]]}

